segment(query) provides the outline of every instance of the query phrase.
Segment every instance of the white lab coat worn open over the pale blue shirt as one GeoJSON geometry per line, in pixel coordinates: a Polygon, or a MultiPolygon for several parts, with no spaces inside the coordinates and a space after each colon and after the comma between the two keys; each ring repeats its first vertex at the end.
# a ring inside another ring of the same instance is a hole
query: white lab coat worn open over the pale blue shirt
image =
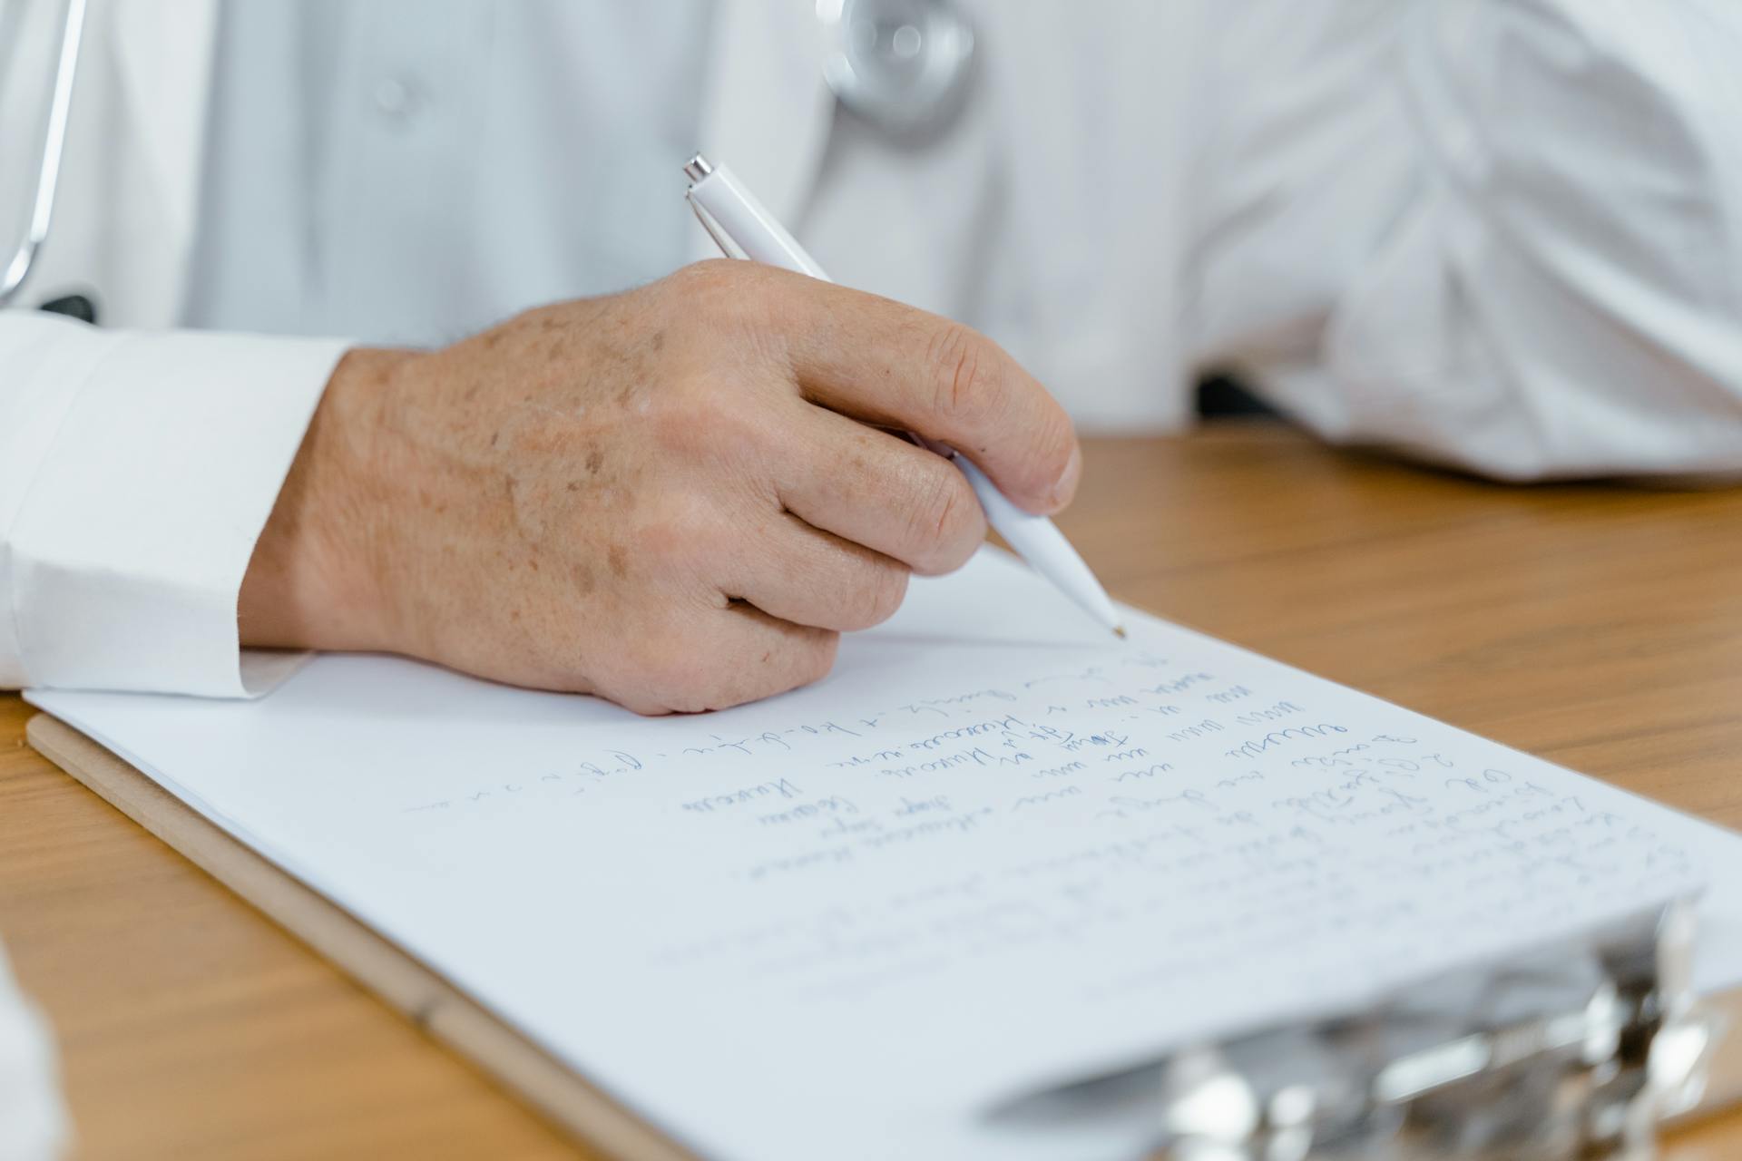
{"type": "MultiPolygon", "coordinates": [[[[723,0],[700,144],[1085,430],[1179,426],[1226,366],[1327,439],[1503,479],[1742,468],[1733,0],[967,7],[963,117],[902,146],[836,113],[814,5],[723,0]]],[[[277,672],[237,665],[235,594],[343,341],[167,331],[214,14],[92,0],[26,301],[92,287],[131,332],[0,315],[0,684],[277,672]]]]}

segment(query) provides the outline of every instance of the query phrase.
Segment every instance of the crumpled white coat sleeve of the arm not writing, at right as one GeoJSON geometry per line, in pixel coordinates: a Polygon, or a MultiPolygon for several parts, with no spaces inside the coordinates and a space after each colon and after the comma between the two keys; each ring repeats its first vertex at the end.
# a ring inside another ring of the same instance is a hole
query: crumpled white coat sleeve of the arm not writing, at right
{"type": "Polygon", "coordinates": [[[1742,472],[1739,61],[1735,0],[1415,5],[1409,191],[1280,402],[1500,479],[1742,472]]]}

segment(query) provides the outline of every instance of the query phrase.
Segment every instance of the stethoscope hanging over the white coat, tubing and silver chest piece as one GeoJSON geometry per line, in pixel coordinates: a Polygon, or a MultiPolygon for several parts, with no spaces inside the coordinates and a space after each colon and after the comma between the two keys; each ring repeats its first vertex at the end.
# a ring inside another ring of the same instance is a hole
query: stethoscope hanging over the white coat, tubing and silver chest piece
{"type": "MultiPolygon", "coordinates": [[[[955,120],[974,63],[974,28],[955,0],[817,0],[817,19],[822,78],[845,110],[909,143],[955,120]]],[[[85,0],[66,0],[30,226],[0,277],[0,306],[24,287],[49,238],[84,31],[85,0]]]]}

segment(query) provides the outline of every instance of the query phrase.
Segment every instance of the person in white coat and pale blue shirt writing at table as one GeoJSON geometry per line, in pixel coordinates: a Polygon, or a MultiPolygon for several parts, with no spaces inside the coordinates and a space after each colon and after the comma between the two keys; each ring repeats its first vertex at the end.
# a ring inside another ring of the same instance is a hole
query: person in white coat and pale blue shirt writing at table
{"type": "Polygon", "coordinates": [[[99,325],[0,313],[0,686],[730,705],[982,538],[873,425],[1052,512],[1211,369],[1505,480],[1735,472],[1737,61],[1733,0],[92,0],[16,305],[99,325]],[[857,289],[690,266],[697,146],[857,289]]]}

